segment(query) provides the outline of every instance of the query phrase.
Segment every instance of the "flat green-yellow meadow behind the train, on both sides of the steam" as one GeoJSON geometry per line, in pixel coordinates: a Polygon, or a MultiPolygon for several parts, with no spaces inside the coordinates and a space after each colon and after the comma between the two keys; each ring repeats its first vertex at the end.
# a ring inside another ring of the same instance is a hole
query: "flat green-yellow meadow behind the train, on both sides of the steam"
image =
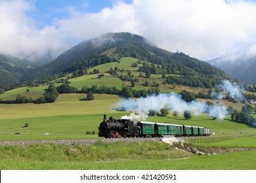
{"type": "MultiPolygon", "coordinates": [[[[85,97],[85,94],[62,94],[55,103],[49,104],[1,104],[0,140],[97,138],[97,135],[88,136],[85,133],[97,133],[103,114],[112,115],[116,119],[129,114],[112,110],[114,103],[120,100],[117,95],[96,94],[93,101],[83,100],[85,97]],[[30,127],[23,127],[26,123],[30,127]],[[16,132],[20,132],[20,135],[14,135],[16,132]]],[[[184,120],[182,114],[173,118],[170,111],[167,117],[154,116],[147,120],[210,127],[216,135],[256,133],[255,128],[230,120],[211,120],[207,114],[193,115],[191,120],[184,120]]]]}

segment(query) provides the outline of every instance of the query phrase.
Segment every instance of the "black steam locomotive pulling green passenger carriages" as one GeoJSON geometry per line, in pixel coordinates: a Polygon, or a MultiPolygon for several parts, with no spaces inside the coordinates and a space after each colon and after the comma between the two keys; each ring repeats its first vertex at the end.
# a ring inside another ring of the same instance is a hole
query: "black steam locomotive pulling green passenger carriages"
{"type": "Polygon", "coordinates": [[[125,138],[125,137],[163,137],[174,135],[175,137],[186,136],[209,136],[209,127],[191,125],[165,124],[157,122],[143,122],[130,120],[129,118],[114,119],[112,116],[107,120],[104,114],[103,120],[98,127],[98,137],[125,138]]]}

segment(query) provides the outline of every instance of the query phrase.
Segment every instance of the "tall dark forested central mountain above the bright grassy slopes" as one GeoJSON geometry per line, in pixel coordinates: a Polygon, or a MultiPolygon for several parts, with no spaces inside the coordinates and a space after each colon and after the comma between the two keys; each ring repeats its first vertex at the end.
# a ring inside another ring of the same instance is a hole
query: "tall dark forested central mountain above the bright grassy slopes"
{"type": "MultiPolygon", "coordinates": [[[[91,68],[102,63],[109,63],[118,61],[122,57],[133,57],[141,61],[147,61],[156,65],[156,67],[146,66],[141,69],[145,72],[151,69],[152,74],[173,74],[182,75],[190,80],[191,75],[195,76],[194,79],[208,78],[228,78],[221,69],[211,66],[209,63],[200,61],[195,58],[190,58],[183,53],[172,53],[148,43],[143,37],[131,33],[107,33],[101,37],[90,39],[89,41],[81,42],[70,50],[64,52],[58,58],[50,63],[35,69],[30,74],[32,78],[46,78],[58,73],[72,73],[77,70],[91,68]],[[161,67],[161,69],[159,68],[161,67]],[[156,71],[158,70],[158,71],[156,71]],[[198,77],[200,76],[200,77],[198,77]]],[[[51,77],[51,79],[54,79],[51,77]]],[[[177,81],[178,78],[170,78],[177,81]]],[[[193,82],[193,81],[190,81],[193,82]]],[[[204,87],[201,81],[198,86],[204,87]]],[[[211,82],[211,88],[215,82],[211,82]]],[[[190,86],[192,84],[186,84],[190,86]]]]}

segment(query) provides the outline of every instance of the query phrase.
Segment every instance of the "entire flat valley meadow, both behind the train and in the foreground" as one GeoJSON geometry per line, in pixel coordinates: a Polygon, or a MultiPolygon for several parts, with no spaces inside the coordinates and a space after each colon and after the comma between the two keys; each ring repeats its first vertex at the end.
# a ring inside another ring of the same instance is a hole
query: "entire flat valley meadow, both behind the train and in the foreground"
{"type": "MultiPolygon", "coordinates": [[[[120,118],[129,112],[112,110],[117,95],[96,94],[95,100],[81,100],[85,94],[62,94],[55,103],[0,105],[0,140],[95,139],[103,114],[120,118]],[[3,112],[5,111],[5,112],[3,112]],[[102,112],[104,111],[104,113],[102,112]],[[25,123],[29,127],[23,127],[25,123]],[[14,135],[16,132],[20,135],[14,135]],[[44,135],[49,133],[49,135],[44,135]]],[[[211,120],[207,114],[184,120],[151,116],[147,121],[210,127],[215,135],[187,138],[195,147],[256,148],[255,128],[211,120]],[[243,131],[244,133],[240,133],[243,131]]],[[[96,143],[91,146],[32,144],[0,146],[1,169],[256,169],[256,150],[196,156],[175,150],[161,142],[96,143]]]]}

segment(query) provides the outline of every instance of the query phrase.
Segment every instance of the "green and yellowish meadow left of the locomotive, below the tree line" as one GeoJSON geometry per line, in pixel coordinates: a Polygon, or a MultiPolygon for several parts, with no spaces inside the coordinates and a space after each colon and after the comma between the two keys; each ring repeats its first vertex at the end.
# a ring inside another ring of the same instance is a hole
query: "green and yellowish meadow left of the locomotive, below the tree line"
{"type": "Polygon", "coordinates": [[[1,104],[0,140],[84,139],[88,138],[87,131],[98,132],[103,114],[116,118],[127,114],[112,110],[119,100],[117,95],[95,95],[93,101],[84,101],[85,97],[85,94],[62,94],[49,104],[1,104]],[[26,123],[30,126],[24,127],[26,123]],[[20,135],[13,135],[16,132],[20,135]]]}

